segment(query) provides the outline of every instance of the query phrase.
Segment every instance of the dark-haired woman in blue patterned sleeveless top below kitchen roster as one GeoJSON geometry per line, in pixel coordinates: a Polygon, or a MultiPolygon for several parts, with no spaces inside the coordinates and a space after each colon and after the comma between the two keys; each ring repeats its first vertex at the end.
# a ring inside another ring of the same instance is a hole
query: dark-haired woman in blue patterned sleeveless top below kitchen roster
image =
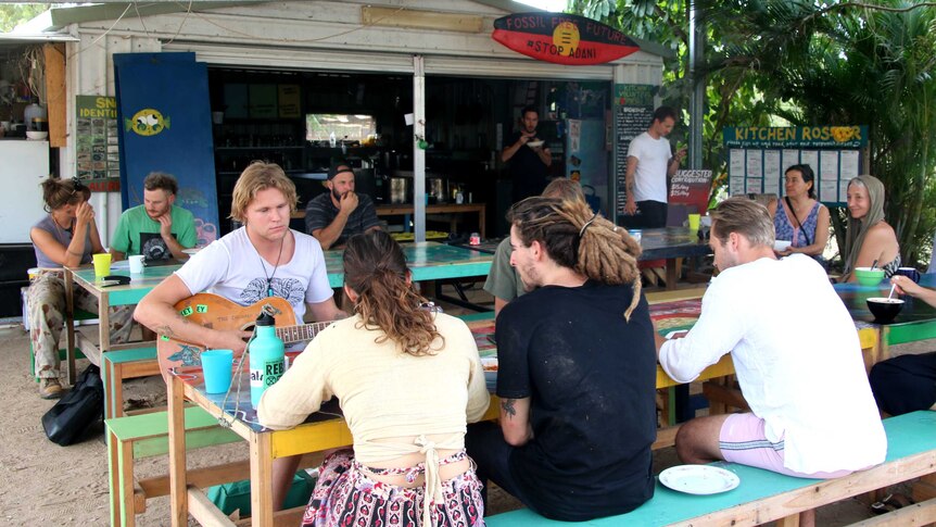
{"type": "Polygon", "coordinates": [[[820,262],[829,242],[829,209],[815,199],[815,175],[809,165],[793,165],[784,174],[786,197],[768,205],[777,240],[789,248],[776,253],[808,254],[820,262]]]}

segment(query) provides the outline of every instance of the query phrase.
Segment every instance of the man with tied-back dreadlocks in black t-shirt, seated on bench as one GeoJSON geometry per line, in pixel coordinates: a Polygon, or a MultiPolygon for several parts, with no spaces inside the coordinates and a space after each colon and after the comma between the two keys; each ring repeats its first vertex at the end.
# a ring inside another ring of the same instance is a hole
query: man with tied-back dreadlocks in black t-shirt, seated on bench
{"type": "Polygon", "coordinates": [[[501,426],[469,427],[468,452],[543,516],[629,512],[654,493],[654,328],[640,246],[583,201],[529,198],[507,214],[524,294],[497,317],[501,426]]]}

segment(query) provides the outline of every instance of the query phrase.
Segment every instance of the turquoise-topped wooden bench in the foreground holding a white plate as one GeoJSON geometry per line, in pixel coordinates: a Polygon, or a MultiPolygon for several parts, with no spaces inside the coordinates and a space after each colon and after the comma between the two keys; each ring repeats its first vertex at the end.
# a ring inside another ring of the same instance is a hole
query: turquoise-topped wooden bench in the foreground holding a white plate
{"type": "MultiPolygon", "coordinates": [[[[589,526],[705,525],[745,526],[779,520],[798,524],[798,514],[884,487],[936,474],[936,412],[923,411],[884,419],[886,461],[849,476],[819,480],[784,476],[734,463],[718,463],[741,478],[738,488],[712,495],[692,495],[659,482],[654,498],[618,516],[592,519],[589,526]]],[[[843,448],[847,448],[844,446],[843,448]]],[[[485,518],[490,527],[559,525],[523,509],[485,518]]],[[[859,525],[925,525],[936,522],[936,498],[861,522],[859,525]]]]}

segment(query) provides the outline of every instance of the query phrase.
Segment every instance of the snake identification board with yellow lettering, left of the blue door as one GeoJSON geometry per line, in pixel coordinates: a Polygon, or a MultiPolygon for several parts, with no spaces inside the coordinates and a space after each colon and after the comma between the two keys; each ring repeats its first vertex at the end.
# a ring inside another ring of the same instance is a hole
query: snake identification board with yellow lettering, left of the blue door
{"type": "Polygon", "coordinates": [[[119,190],[116,99],[76,96],[75,128],[75,174],[92,190],[119,190]]]}

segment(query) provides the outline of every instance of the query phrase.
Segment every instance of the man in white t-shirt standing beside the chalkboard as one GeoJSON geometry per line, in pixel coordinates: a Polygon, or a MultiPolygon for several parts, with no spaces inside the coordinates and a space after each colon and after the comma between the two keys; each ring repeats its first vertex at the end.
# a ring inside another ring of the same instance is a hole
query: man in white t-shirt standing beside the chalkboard
{"type": "Polygon", "coordinates": [[[654,111],[647,131],[635,137],[628,147],[627,193],[624,224],[628,228],[656,228],[667,226],[667,179],[675,174],[686,156],[680,149],[670,150],[667,136],[676,124],[676,112],[670,106],[654,111]]]}

